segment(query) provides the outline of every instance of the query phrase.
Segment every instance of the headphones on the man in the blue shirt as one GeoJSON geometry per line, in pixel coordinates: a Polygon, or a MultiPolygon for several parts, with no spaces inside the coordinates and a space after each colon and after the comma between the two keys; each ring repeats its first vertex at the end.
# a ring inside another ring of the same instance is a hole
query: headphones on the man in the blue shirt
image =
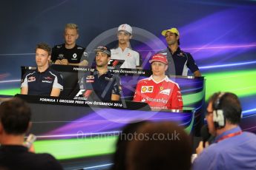
{"type": "Polygon", "coordinates": [[[220,92],[220,95],[217,96],[217,99],[214,102],[213,120],[214,126],[217,129],[223,128],[226,124],[225,113],[223,109],[220,108],[220,100],[223,98],[223,95],[225,94],[225,92],[220,92]]]}

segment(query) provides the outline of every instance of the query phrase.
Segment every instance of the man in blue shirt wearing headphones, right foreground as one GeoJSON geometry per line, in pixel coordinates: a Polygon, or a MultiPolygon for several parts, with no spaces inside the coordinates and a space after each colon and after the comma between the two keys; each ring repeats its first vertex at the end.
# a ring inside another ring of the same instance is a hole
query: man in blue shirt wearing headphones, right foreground
{"type": "Polygon", "coordinates": [[[206,120],[211,135],[210,146],[203,141],[197,147],[193,169],[255,169],[256,135],[239,126],[242,109],[237,95],[217,92],[209,99],[206,120]]]}

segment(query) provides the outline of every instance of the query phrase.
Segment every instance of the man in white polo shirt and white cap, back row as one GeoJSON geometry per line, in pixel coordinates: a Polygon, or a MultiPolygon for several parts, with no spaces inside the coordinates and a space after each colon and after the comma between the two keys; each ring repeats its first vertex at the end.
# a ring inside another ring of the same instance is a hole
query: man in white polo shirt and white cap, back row
{"type": "Polygon", "coordinates": [[[140,67],[140,54],[131,50],[130,39],[132,38],[132,28],[128,24],[122,24],[117,32],[118,47],[111,50],[111,59],[125,60],[120,68],[136,69],[140,67]]]}

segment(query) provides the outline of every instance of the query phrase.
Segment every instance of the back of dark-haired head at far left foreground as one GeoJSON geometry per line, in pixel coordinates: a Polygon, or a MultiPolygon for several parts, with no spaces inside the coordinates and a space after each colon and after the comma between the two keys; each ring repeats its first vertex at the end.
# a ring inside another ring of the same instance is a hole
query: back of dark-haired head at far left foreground
{"type": "Polygon", "coordinates": [[[0,119],[4,132],[9,135],[22,135],[30,123],[30,107],[21,98],[4,101],[0,105],[0,119]]]}

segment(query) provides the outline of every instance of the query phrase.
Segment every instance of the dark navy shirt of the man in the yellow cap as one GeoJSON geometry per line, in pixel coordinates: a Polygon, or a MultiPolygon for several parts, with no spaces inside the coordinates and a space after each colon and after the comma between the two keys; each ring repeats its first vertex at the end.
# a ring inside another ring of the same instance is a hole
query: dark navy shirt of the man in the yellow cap
{"type": "Polygon", "coordinates": [[[159,53],[166,55],[168,60],[168,69],[166,70],[166,75],[187,76],[188,69],[190,69],[191,72],[199,70],[192,55],[188,52],[180,50],[180,47],[178,47],[174,54],[171,54],[171,49],[169,47],[159,53]]]}

